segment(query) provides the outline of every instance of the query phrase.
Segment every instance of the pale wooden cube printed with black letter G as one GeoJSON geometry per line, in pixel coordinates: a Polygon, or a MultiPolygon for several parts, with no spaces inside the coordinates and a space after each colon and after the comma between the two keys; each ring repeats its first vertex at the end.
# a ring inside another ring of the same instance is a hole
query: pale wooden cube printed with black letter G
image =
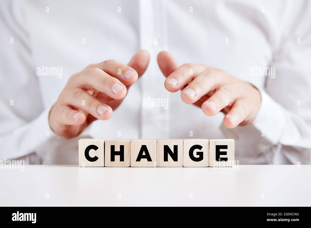
{"type": "Polygon", "coordinates": [[[208,167],[209,142],[208,139],[183,140],[183,166],[208,167]]]}

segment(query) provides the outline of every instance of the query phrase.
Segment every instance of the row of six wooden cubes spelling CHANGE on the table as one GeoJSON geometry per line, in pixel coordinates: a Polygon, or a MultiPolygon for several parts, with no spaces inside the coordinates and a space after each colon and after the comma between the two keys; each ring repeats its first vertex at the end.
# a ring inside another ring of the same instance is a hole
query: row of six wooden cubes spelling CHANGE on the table
{"type": "Polygon", "coordinates": [[[81,167],[232,167],[233,139],[79,140],[81,167]]]}

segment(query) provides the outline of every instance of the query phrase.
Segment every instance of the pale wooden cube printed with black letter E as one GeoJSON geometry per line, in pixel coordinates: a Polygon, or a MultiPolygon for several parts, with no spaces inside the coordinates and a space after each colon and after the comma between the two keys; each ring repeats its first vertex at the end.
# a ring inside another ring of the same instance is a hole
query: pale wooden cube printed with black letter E
{"type": "Polygon", "coordinates": [[[234,165],[234,140],[210,139],[210,167],[234,165]]]}

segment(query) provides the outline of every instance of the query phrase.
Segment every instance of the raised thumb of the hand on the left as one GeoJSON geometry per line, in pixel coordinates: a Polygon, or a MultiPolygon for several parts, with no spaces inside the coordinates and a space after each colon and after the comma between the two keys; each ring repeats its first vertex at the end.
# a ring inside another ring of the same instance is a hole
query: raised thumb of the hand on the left
{"type": "Polygon", "coordinates": [[[138,51],[129,61],[128,66],[136,70],[138,78],[145,73],[150,60],[149,52],[146,50],[138,51]]]}

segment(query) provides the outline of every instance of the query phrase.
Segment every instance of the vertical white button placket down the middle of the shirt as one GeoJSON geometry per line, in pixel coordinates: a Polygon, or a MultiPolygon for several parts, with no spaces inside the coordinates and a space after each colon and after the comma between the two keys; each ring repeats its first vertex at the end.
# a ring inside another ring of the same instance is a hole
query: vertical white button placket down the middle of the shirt
{"type": "Polygon", "coordinates": [[[162,0],[140,1],[140,47],[151,56],[146,73],[140,78],[141,138],[169,138],[170,95],[157,64],[157,54],[167,50],[165,2],[162,0]]]}

